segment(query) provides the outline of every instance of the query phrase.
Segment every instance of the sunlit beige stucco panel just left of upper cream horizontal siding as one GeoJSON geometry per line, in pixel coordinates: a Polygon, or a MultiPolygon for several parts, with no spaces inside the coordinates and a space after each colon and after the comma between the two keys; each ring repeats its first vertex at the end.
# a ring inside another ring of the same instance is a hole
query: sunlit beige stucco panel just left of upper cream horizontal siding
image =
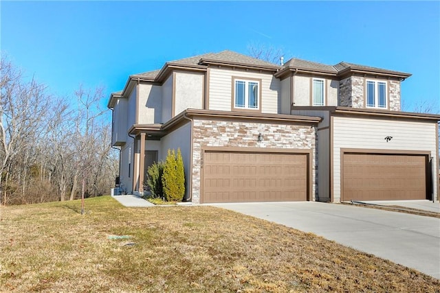
{"type": "Polygon", "coordinates": [[[175,73],[175,113],[203,108],[203,73],[175,73]]]}

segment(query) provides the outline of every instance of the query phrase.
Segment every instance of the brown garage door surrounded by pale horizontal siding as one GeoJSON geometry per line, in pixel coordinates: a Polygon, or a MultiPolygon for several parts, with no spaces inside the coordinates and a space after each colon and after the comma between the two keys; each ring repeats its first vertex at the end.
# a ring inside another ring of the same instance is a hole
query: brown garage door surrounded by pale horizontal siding
{"type": "Polygon", "coordinates": [[[343,155],[342,200],[426,199],[426,156],[343,155]]]}

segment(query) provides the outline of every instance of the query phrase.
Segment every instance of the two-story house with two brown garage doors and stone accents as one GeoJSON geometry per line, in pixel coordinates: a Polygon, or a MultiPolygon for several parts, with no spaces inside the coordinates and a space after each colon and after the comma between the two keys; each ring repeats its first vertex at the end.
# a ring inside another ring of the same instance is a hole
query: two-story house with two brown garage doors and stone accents
{"type": "Polygon", "coordinates": [[[180,148],[195,203],[437,199],[440,115],[401,112],[409,76],[233,51],[131,75],[108,104],[121,188],[180,148]]]}

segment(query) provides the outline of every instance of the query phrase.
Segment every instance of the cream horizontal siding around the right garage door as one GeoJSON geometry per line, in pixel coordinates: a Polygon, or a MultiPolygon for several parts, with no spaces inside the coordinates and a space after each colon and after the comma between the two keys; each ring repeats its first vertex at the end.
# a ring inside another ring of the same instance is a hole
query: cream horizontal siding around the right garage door
{"type": "MultiPolygon", "coordinates": [[[[340,202],[342,148],[430,152],[437,162],[436,140],[436,124],[432,122],[333,117],[333,201],[340,202]],[[393,139],[386,142],[388,136],[393,139]]],[[[439,170],[437,164],[433,165],[436,176],[439,170]]],[[[434,198],[437,184],[434,180],[434,198]]]]}

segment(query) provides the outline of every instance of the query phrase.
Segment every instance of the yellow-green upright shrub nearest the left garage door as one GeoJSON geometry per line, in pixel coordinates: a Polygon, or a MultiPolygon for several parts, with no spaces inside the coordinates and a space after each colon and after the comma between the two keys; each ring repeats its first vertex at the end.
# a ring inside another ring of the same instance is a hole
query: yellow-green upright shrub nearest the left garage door
{"type": "Polygon", "coordinates": [[[168,201],[180,201],[185,195],[185,170],[180,149],[168,150],[162,175],[164,197],[168,201]]]}

